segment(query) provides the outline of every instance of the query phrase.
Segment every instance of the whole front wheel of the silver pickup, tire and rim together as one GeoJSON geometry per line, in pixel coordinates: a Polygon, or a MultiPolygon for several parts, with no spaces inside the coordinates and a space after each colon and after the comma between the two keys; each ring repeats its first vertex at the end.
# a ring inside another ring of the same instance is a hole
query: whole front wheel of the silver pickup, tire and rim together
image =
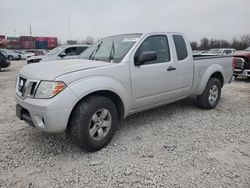
{"type": "Polygon", "coordinates": [[[117,126],[114,102],[104,96],[90,96],[74,108],[68,133],[80,148],[97,151],[111,141],[117,126]]]}

